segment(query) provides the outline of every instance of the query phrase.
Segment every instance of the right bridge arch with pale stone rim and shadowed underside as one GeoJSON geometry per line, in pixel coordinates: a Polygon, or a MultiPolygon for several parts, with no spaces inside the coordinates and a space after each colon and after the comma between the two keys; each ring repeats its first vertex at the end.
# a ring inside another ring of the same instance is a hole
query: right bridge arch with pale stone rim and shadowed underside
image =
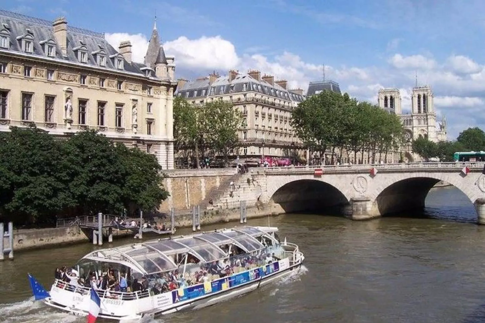
{"type": "MultiPolygon", "coordinates": [[[[467,175],[467,176],[471,176],[467,175]]],[[[450,183],[463,194],[471,203],[475,203],[477,194],[476,183],[465,180],[464,174],[443,172],[386,174],[386,178],[372,191],[369,198],[373,201],[372,213],[385,215],[405,210],[422,209],[426,196],[439,181],[450,183]],[[471,185],[470,185],[471,184],[471,185]]]]}

